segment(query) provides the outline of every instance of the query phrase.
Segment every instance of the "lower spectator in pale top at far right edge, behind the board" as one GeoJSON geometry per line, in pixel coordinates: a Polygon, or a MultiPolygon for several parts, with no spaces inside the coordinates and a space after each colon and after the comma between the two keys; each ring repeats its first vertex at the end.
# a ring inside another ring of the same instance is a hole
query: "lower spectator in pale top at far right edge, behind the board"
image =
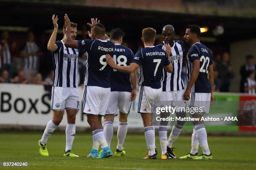
{"type": "Polygon", "coordinates": [[[243,81],[244,92],[250,95],[255,95],[256,82],[255,82],[255,71],[251,70],[248,73],[248,77],[243,81]]]}

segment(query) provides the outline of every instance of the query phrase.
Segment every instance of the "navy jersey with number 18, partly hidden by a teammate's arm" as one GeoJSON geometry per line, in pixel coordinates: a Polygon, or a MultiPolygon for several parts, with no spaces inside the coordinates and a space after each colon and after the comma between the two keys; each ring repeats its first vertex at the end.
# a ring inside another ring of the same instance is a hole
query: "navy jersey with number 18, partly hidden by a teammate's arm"
{"type": "MultiPolygon", "coordinates": [[[[115,44],[115,52],[113,55],[115,63],[121,66],[130,65],[134,55],[130,48],[121,44],[115,44]]],[[[110,69],[110,89],[118,92],[131,92],[130,74],[119,72],[113,68],[110,69]]]]}

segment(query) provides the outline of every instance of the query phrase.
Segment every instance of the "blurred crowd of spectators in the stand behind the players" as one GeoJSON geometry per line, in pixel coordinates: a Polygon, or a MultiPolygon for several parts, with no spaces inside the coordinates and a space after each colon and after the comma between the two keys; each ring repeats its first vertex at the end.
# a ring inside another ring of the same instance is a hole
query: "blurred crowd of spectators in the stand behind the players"
{"type": "MultiPolygon", "coordinates": [[[[8,31],[1,32],[0,39],[0,82],[52,85],[54,80],[54,66],[51,52],[46,45],[38,45],[33,32],[27,33],[27,39],[15,42],[8,31]]],[[[161,42],[161,40],[156,40],[161,42]]],[[[129,47],[127,42],[124,46],[129,47]]],[[[131,47],[130,47],[131,48],[131,47]]],[[[140,48],[138,43],[137,49],[140,48]]],[[[137,50],[136,49],[136,50],[137,50]]],[[[235,75],[230,64],[230,54],[227,51],[213,52],[215,92],[229,92],[230,82],[235,76],[241,77],[240,92],[255,89],[255,61],[252,55],[245,57],[245,64],[240,68],[240,75],[235,75]],[[250,78],[251,77],[251,78],[250,78]]],[[[184,66],[186,74],[186,66],[184,66]]],[[[79,58],[79,85],[83,85],[85,61],[79,58]]],[[[183,76],[184,83],[187,76],[183,76]]]]}

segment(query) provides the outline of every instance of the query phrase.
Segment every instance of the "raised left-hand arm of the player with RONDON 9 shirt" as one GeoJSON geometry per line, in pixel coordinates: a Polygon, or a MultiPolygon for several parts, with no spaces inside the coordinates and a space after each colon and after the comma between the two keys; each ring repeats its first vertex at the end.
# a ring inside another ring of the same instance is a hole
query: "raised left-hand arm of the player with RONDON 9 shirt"
{"type": "Polygon", "coordinates": [[[70,23],[70,20],[69,20],[69,17],[67,16],[67,14],[65,14],[64,20],[65,20],[65,27],[66,27],[65,46],[78,49],[79,48],[78,43],[77,43],[78,41],[77,40],[72,40],[72,38],[70,36],[71,23],[70,23]]]}

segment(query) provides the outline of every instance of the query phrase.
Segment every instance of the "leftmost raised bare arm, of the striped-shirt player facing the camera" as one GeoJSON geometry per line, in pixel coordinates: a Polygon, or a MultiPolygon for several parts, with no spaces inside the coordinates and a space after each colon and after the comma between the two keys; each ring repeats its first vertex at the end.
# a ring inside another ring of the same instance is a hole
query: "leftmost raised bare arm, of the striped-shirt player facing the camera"
{"type": "Polygon", "coordinates": [[[57,32],[58,32],[58,23],[57,21],[59,20],[58,18],[58,15],[52,15],[52,23],[54,25],[54,30],[51,34],[51,37],[48,41],[48,44],[47,44],[47,50],[51,51],[51,52],[54,52],[58,49],[58,46],[55,44],[56,42],[56,36],[57,36],[57,32]]]}

